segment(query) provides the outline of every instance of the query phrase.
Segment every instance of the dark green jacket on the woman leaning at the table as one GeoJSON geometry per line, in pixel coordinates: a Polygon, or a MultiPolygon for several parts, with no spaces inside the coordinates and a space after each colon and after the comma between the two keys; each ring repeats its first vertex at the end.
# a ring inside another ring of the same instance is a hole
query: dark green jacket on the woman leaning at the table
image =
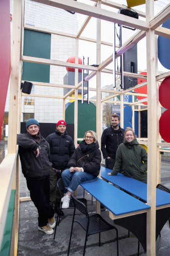
{"type": "Polygon", "coordinates": [[[124,139],[123,143],[119,145],[111,175],[117,175],[121,165],[124,175],[147,183],[147,153],[136,138],[131,142],[124,139]]]}

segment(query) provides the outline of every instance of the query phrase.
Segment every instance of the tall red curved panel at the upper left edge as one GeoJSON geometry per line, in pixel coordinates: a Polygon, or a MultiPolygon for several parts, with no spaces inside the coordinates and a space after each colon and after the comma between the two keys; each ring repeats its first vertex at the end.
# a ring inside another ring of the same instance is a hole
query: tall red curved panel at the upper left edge
{"type": "Polygon", "coordinates": [[[10,0],[0,1],[0,127],[2,129],[4,110],[11,68],[10,0]]]}

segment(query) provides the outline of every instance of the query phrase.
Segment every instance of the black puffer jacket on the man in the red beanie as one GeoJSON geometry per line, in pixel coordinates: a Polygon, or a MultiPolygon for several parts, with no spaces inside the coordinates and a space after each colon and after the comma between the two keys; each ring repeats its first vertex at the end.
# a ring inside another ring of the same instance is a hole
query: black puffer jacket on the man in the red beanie
{"type": "Polygon", "coordinates": [[[64,135],[61,135],[56,129],[56,132],[50,134],[46,141],[50,145],[52,167],[60,170],[66,168],[70,157],[75,151],[73,139],[67,134],[67,131],[64,135]]]}

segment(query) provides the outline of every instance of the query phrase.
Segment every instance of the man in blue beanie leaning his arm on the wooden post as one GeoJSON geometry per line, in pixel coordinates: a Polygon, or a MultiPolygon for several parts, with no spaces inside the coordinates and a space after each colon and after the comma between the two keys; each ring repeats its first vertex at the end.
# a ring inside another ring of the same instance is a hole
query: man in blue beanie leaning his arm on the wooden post
{"type": "Polygon", "coordinates": [[[50,199],[50,146],[39,132],[39,122],[26,122],[27,134],[17,135],[22,172],[27,180],[30,197],[38,210],[38,229],[53,234],[56,225],[50,199]]]}

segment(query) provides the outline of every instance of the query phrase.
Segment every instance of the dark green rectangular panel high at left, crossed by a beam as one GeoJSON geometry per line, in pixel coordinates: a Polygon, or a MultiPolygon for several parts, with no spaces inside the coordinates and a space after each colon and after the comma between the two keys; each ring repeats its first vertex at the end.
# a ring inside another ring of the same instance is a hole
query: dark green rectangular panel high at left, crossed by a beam
{"type": "MultiPolygon", "coordinates": [[[[51,34],[24,30],[24,55],[50,59],[51,34]]],[[[25,81],[50,82],[50,65],[23,62],[22,79],[25,81]]]]}

